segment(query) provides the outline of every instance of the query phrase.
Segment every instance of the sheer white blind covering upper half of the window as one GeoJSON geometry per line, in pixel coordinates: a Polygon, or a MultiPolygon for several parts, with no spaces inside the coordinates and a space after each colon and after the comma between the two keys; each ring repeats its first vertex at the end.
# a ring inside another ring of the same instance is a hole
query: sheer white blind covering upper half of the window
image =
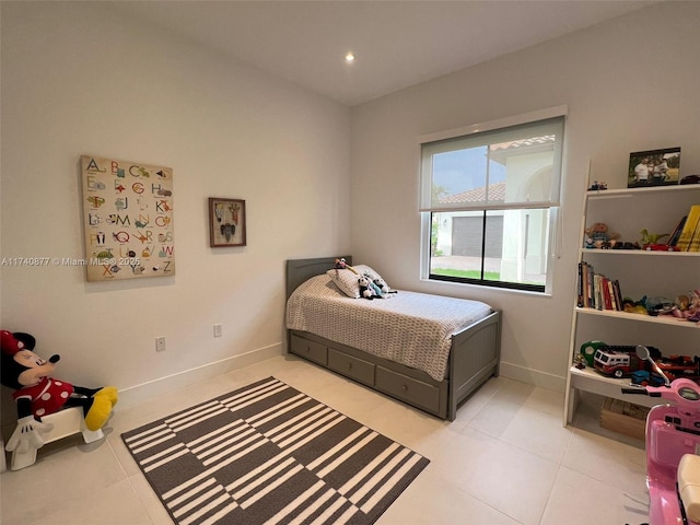
{"type": "Polygon", "coordinates": [[[558,207],[563,129],[561,113],[421,141],[420,211],[558,207]]]}

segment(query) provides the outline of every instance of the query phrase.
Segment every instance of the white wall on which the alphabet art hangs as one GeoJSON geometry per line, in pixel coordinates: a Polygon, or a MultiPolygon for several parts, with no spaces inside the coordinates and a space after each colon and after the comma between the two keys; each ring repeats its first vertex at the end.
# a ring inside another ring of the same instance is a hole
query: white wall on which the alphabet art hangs
{"type": "Polygon", "coordinates": [[[173,168],[177,272],[3,266],[0,327],[125,392],[279,353],[284,259],[349,247],[350,110],[101,2],[2,2],[1,22],[1,256],[84,256],[90,154],[173,168]],[[209,247],[208,197],[246,200],[246,247],[209,247]]]}

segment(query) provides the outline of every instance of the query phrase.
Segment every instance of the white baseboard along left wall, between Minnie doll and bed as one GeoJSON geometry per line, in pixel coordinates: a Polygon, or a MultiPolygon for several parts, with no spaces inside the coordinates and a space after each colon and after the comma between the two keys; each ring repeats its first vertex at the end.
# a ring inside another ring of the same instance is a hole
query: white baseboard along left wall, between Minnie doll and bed
{"type": "Polygon", "coordinates": [[[119,388],[118,409],[129,408],[143,399],[166,394],[178,387],[215,377],[217,375],[225,374],[232,370],[249,366],[250,364],[281,355],[282,351],[282,343],[279,342],[250,352],[232,355],[231,358],[222,359],[221,361],[203,364],[196,369],[186,370],[178,372],[177,374],[149,381],[148,383],[119,388]]]}

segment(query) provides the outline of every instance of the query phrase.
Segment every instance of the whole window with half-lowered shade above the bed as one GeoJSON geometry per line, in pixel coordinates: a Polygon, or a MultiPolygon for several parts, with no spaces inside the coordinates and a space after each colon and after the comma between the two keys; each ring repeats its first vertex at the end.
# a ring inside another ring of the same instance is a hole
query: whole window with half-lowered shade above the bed
{"type": "Polygon", "coordinates": [[[564,115],[421,140],[423,278],[550,291],[564,115]]]}

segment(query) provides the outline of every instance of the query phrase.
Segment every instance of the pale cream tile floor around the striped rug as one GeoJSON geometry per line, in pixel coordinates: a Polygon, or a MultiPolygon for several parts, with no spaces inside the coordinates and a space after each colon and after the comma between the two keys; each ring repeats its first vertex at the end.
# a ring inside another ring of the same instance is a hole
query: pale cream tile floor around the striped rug
{"type": "Polygon", "coordinates": [[[0,476],[2,525],[171,524],[120,433],[275,375],[431,459],[377,525],[638,525],[649,498],[641,443],[603,435],[593,405],[561,424],[563,396],[491,378],[448,423],[291,355],[119,410],[106,441],[46,445],[0,476]]]}

